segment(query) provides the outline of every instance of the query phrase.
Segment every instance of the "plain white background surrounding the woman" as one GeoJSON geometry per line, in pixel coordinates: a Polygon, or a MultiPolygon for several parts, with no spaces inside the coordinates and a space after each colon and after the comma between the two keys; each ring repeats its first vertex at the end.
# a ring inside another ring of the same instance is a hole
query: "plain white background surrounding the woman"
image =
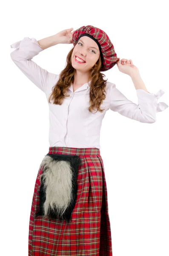
{"type": "MultiPolygon", "coordinates": [[[[169,105],[167,1],[9,1],[1,9],[1,255],[27,256],[29,217],[39,165],[49,150],[45,93],[11,60],[10,45],[63,29],[96,26],[117,57],[132,59],[150,93],[169,105]]],[[[59,74],[73,44],[33,58],[59,74]]],[[[117,65],[102,72],[137,103],[132,79],[117,65]]],[[[111,110],[100,132],[108,190],[113,256],[169,256],[169,108],[141,123],[111,110]]]]}

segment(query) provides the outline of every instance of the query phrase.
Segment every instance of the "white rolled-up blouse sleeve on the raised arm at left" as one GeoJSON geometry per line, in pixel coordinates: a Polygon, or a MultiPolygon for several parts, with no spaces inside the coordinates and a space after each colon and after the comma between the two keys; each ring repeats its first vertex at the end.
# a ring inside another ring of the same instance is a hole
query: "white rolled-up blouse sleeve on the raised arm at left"
{"type": "Polygon", "coordinates": [[[48,84],[52,82],[56,74],[38,66],[32,58],[42,52],[43,49],[35,38],[25,37],[21,41],[11,44],[11,48],[16,48],[11,52],[11,59],[17,67],[43,92],[46,92],[48,84]]]}

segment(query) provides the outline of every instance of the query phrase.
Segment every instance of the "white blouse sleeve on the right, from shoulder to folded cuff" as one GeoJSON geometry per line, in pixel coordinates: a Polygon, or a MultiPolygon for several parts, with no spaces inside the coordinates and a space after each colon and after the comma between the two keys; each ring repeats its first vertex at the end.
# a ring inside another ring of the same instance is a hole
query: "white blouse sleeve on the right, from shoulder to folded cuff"
{"type": "Polygon", "coordinates": [[[154,94],[143,89],[137,89],[138,105],[127,99],[113,83],[111,83],[109,93],[112,111],[139,122],[154,123],[156,122],[156,113],[169,107],[165,102],[158,103],[158,99],[164,94],[163,90],[154,94]]]}

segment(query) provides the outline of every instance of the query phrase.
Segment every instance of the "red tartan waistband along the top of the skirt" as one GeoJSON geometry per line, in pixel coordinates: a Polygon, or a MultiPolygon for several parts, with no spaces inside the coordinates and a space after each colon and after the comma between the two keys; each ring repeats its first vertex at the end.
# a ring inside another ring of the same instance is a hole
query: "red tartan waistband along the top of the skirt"
{"type": "Polygon", "coordinates": [[[49,147],[49,154],[100,155],[99,148],[49,147]]]}

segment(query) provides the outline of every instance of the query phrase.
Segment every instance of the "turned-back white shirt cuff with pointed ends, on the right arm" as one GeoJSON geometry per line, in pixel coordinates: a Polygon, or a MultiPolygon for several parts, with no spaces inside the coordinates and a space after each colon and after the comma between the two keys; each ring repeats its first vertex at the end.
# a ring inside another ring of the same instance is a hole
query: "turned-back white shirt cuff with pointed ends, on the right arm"
{"type": "Polygon", "coordinates": [[[146,92],[143,89],[137,89],[138,104],[142,103],[154,103],[157,107],[156,112],[164,111],[169,106],[165,102],[158,102],[158,99],[165,93],[163,90],[159,90],[156,94],[146,92]]]}

